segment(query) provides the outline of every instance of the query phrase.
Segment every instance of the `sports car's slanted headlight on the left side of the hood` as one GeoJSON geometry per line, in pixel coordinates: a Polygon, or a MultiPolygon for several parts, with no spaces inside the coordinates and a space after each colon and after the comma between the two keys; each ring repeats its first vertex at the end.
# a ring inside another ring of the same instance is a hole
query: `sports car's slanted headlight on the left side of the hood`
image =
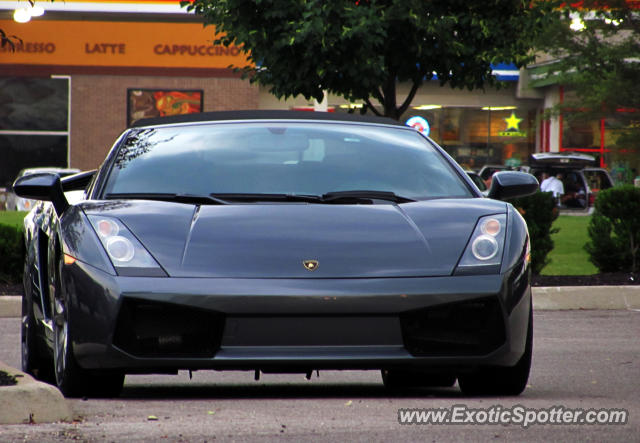
{"type": "Polygon", "coordinates": [[[88,215],[119,275],[166,276],[158,262],[117,218],[88,215]]]}

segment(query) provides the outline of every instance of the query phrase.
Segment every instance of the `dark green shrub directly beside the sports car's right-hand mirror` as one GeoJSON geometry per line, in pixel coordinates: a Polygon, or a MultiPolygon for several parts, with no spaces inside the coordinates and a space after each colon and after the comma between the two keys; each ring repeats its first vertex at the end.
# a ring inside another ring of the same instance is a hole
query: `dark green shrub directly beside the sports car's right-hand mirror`
{"type": "Polygon", "coordinates": [[[547,255],[553,249],[551,234],[558,232],[551,225],[558,218],[558,208],[550,192],[537,192],[523,198],[513,199],[513,206],[522,214],[529,227],[531,239],[531,268],[534,274],[551,262],[547,255]]]}

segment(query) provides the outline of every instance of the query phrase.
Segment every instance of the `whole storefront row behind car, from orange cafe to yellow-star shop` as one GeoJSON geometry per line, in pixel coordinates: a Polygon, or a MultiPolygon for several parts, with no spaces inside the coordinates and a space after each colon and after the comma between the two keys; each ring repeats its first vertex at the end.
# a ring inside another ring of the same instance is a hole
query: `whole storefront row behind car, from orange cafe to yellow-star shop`
{"type": "MultiPolygon", "coordinates": [[[[0,1],[0,29],[22,39],[13,52],[0,49],[0,186],[25,167],[96,168],[117,136],[142,117],[232,109],[358,112],[360,106],[332,95],[320,105],[276,99],[229,69],[246,65],[241,48],[214,45],[215,30],[175,1],[39,2],[45,15],[24,24],[10,17],[14,3],[0,1]]],[[[586,140],[584,128],[545,119],[543,110],[562,100],[557,85],[531,88],[530,73],[509,66],[494,73],[500,87],[484,91],[427,82],[402,120],[419,118],[431,138],[471,169],[606,144],[599,128],[586,140]]],[[[408,90],[399,85],[398,102],[408,90]]]]}

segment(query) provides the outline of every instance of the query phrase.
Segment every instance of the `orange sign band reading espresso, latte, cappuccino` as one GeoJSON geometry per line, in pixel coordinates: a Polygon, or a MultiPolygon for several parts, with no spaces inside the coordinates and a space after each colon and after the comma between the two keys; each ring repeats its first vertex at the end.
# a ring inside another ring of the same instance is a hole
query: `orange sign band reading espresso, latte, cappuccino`
{"type": "Polygon", "coordinates": [[[0,20],[0,29],[22,39],[14,52],[7,46],[0,49],[0,65],[218,69],[248,65],[242,48],[214,46],[214,28],[200,23],[0,20]]]}

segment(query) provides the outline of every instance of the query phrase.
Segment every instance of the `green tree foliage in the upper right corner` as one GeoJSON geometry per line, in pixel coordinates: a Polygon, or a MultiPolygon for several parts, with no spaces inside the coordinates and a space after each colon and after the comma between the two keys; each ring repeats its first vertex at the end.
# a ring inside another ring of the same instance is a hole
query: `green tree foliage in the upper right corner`
{"type": "MultiPolygon", "coordinates": [[[[573,91],[560,110],[578,109],[574,118],[585,120],[640,110],[640,3],[584,0],[564,3],[560,11],[560,22],[549,26],[536,45],[555,60],[549,75],[573,91]]],[[[619,130],[618,147],[637,144],[640,127],[608,122],[619,130]]]]}

